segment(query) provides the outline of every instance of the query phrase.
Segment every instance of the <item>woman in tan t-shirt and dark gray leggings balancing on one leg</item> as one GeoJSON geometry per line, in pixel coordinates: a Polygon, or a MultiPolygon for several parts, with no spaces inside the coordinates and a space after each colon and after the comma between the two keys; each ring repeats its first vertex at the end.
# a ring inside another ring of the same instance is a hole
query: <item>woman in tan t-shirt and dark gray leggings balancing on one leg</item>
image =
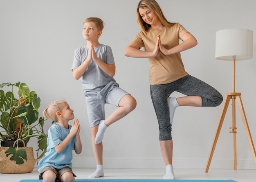
{"type": "Polygon", "coordinates": [[[137,6],[141,31],[126,47],[124,55],[145,58],[150,62],[150,94],[159,124],[159,140],[166,164],[164,179],[175,179],[172,158],[171,125],[178,106],[215,107],[222,95],[207,83],[189,75],[180,52],[197,45],[191,33],[178,23],[166,20],[155,0],[141,0],[137,6]],[[179,40],[182,43],[179,44],[179,40]],[[144,47],[144,50],[140,48],[144,47]],[[186,96],[169,98],[174,91],[186,96]]]}

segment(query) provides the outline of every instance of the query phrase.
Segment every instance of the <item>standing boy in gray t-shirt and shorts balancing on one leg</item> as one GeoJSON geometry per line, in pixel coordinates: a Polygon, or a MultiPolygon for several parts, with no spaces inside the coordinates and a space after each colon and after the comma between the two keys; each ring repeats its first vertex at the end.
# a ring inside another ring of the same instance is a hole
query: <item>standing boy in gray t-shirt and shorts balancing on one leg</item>
{"type": "Polygon", "coordinates": [[[112,123],[126,116],[136,107],[136,100],[128,92],[119,88],[113,78],[115,61],[110,46],[99,43],[103,21],[100,18],[87,18],[83,22],[83,38],[87,44],[74,51],[72,72],[74,79],[80,79],[87,106],[92,132],[92,148],[97,169],[89,178],[104,176],[103,135],[112,123]],[[109,103],[117,109],[105,118],[104,105],[109,103]]]}

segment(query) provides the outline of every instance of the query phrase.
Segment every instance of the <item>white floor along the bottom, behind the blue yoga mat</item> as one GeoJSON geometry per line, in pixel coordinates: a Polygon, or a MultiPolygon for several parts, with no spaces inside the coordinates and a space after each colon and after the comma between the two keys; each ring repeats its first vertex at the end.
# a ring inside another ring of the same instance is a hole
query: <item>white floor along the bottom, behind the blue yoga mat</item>
{"type": "MultiPolygon", "coordinates": [[[[74,168],[76,179],[88,179],[88,175],[94,172],[93,168],[74,168]]],[[[164,169],[120,169],[106,168],[105,176],[101,179],[162,179],[164,169]]],[[[256,170],[240,169],[175,169],[177,180],[234,180],[237,182],[256,182],[256,170]]],[[[38,179],[38,171],[23,174],[1,174],[1,182],[19,182],[22,179],[38,179]]]]}

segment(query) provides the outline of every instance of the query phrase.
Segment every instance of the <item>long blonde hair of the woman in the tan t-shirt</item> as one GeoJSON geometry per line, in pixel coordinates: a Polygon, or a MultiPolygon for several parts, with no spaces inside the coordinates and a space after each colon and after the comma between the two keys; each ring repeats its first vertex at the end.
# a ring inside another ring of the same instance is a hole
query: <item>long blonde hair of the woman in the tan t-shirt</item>
{"type": "Polygon", "coordinates": [[[157,15],[160,22],[164,26],[167,26],[167,27],[173,26],[174,23],[168,22],[168,20],[164,16],[164,13],[162,12],[162,9],[160,8],[159,4],[155,0],[141,0],[139,1],[139,4],[137,6],[137,22],[141,30],[147,31],[151,25],[144,22],[144,20],[141,18],[141,15],[139,13],[140,8],[150,9],[151,11],[154,11],[154,13],[157,15]]]}

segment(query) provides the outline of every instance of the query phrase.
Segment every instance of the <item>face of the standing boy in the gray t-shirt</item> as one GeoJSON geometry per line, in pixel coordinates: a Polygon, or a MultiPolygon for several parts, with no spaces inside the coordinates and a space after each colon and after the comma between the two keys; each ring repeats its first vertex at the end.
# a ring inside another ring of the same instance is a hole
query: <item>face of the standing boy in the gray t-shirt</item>
{"type": "Polygon", "coordinates": [[[83,38],[88,41],[97,40],[101,36],[102,31],[97,29],[94,22],[85,22],[83,24],[83,38]]]}

